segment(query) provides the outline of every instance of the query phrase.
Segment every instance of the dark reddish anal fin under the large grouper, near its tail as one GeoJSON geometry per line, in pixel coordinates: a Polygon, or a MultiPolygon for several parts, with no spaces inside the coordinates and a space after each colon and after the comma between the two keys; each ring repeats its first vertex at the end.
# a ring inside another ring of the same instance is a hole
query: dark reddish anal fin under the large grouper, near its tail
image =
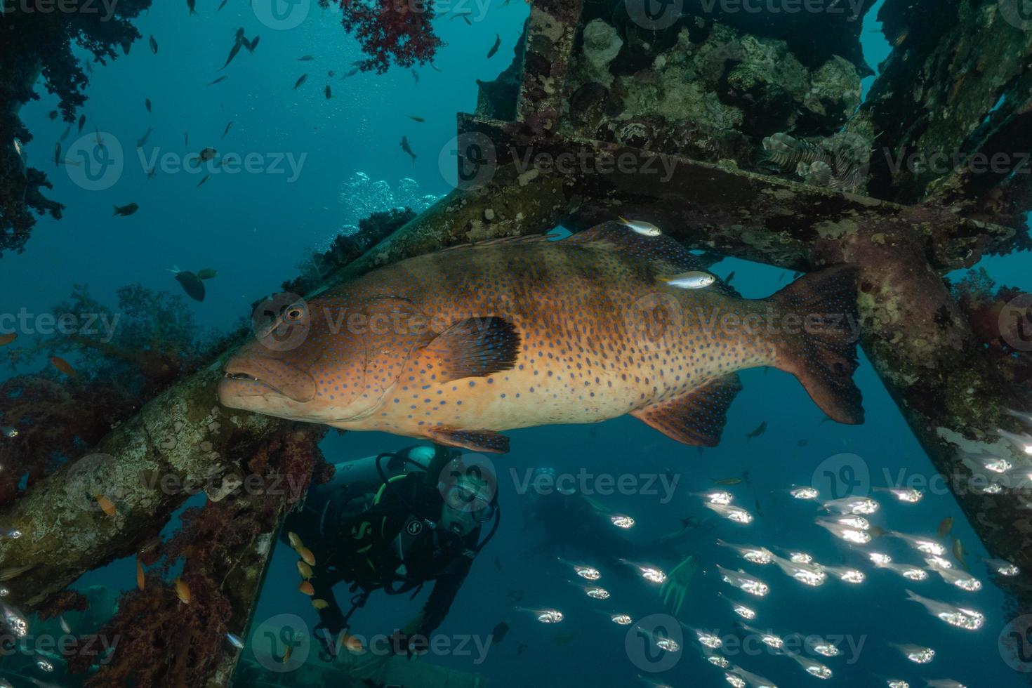
{"type": "Polygon", "coordinates": [[[716,447],[728,422],[728,407],[741,389],[742,383],[732,372],[684,396],[633,411],[631,415],[671,439],[716,447]]]}

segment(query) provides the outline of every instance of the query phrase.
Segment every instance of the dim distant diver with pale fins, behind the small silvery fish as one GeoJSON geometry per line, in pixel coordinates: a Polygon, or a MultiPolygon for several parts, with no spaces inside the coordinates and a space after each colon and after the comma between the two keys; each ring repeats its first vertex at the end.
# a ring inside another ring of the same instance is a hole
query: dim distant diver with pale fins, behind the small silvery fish
{"type": "MultiPolygon", "coordinates": [[[[530,484],[539,480],[555,485],[554,468],[536,468],[530,484]]],[[[633,520],[618,514],[587,495],[573,489],[553,487],[547,492],[531,492],[526,512],[528,525],[539,525],[544,539],[528,554],[556,555],[556,550],[572,550],[585,557],[585,564],[604,566],[617,575],[638,576],[638,562],[672,566],[659,589],[664,603],[677,616],[687,595],[688,584],[698,569],[691,555],[684,554],[683,543],[695,535],[701,523],[682,520],[681,530],[648,543],[627,537],[624,532],[633,520]]]]}

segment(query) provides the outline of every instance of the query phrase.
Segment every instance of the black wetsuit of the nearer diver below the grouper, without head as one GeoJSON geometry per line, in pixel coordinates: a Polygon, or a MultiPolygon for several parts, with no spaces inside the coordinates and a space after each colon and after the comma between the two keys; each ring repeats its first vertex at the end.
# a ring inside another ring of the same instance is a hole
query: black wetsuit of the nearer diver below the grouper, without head
{"type": "Polygon", "coordinates": [[[428,635],[441,625],[470,571],[481,531],[477,527],[459,537],[439,526],[443,500],[437,479],[448,458],[440,453],[428,470],[392,478],[387,485],[316,488],[301,511],[288,517],[284,537],[295,532],[316,557],[313,598],[328,602],[319,617],[329,633],[347,623],[332,592],[341,582],[351,584],[352,605],[361,605],[364,593],[415,595],[432,581],[413,635],[428,635]]]}

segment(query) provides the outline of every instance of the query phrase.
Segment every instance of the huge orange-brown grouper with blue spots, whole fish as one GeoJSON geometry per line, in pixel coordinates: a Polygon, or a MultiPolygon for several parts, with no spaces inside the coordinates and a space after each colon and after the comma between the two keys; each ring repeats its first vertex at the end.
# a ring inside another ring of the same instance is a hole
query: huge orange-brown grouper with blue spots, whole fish
{"type": "Polygon", "coordinates": [[[223,405],[475,452],[503,431],[630,414],[672,439],[716,446],[736,374],[796,375],[840,423],[863,421],[857,268],[833,265],[749,300],[674,238],[617,222],[561,241],[456,247],[377,268],[264,324],[225,364],[223,405]],[[341,326],[341,323],[344,323],[341,326]],[[271,341],[283,328],[296,347],[271,341]]]}

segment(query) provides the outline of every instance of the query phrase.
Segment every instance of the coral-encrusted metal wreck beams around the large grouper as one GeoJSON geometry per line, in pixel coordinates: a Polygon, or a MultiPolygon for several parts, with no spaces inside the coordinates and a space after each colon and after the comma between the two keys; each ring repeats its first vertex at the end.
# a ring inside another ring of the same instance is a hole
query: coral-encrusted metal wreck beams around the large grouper
{"type": "MultiPolygon", "coordinates": [[[[1032,611],[1027,490],[986,491],[967,456],[1032,467],[998,433],[1022,432],[1007,409],[1032,407],[1032,299],[943,275],[1030,245],[1032,175],[1019,152],[1032,150],[1032,22],[1006,0],[886,0],[879,19],[894,50],[861,103],[871,4],[775,17],[697,0],[535,0],[512,65],[481,84],[476,113],[458,117],[458,188],[322,286],[444,247],[618,215],[709,255],[797,271],[852,263],[864,351],[986,547],[1021,567],[999,581],[1017,616],[1032,611]]],[[[23,532],[0,539],[0,560],[28,567],[6,583],[26,612],[71,603],[62,591],[114,559],[186,558],[183,580],[220,614],[173,622],[174,592],[148,571],[110,622],[151,615],[188,628],[176,643],[159,642],[160,628],[130,638],[124,661],[171,669],[151,674],[154,685],[230,682],[240,653],[213,638],[246,633],[281,518],[320,479],[323,429],[218,405],[228,353],[0,514],[23,532]],[[298,490],[232,490],[284,474],[298,490]],[[206,538],[155,548],[186,491],[154,476],[221,486],[185,523],[184,537],[206,538]],[[99,495],[117,512],[99,509],[99,495]],[[174,670],[187,665],[188,676],[174,670]]],[[[116,656],[95,685],[131,669],[116,656]]]]}

